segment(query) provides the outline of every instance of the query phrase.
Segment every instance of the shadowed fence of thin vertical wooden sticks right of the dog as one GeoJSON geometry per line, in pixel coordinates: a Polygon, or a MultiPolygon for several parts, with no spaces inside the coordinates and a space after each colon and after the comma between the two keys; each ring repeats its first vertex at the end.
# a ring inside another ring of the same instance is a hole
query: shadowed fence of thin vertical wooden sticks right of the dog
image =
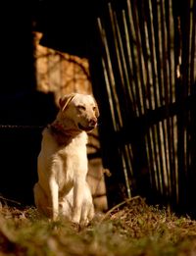
{"type": "Polygon", "coordinates": [[[141,194],[196,215],[196,1],[100,10],[91,66],[109,203],[141,194]]]}

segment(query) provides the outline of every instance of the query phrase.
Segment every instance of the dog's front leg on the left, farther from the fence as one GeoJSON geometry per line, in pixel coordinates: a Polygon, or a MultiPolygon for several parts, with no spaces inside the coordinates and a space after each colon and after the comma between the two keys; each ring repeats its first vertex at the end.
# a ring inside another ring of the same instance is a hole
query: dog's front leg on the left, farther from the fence
{"type": "Polygon", "coordinates": [[[51,205],[52,205],[52,219],[57,220],[59,215],[59,186],[55,179],[51,178],[49,181],[51,205]]]}

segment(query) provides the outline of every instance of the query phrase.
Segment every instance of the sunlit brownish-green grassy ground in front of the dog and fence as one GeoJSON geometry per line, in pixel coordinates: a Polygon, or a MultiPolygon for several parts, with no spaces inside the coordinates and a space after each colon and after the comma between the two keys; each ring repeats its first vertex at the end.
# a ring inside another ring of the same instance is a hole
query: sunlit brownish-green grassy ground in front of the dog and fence
{"type": "Polygon", "coordinates": [[[0,255],[194,256],[196,222],[152,207],[140,197],[78,229],[41,218],[36,209],[1,206],[0,255]]]}

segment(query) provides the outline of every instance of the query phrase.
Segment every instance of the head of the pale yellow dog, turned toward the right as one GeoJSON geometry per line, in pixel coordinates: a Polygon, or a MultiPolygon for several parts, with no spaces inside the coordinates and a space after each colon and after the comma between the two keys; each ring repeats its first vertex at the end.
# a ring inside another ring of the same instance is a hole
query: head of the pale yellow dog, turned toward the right
{"type": "Polygon", "coordinates": [[[62,119],[72,121],[73,128],[85,131],[96,128],[99,109],[93,96],[71,93],[60,98],[59,105],[62,119]]]}

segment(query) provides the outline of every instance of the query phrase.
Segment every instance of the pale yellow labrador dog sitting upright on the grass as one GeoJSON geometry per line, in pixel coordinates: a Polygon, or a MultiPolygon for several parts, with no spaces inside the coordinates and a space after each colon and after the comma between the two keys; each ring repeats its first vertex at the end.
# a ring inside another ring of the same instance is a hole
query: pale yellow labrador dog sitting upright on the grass
{"type": "Polygon", "coordinates": [[[94,216],[87,175],[87,133],[96,128],[99,110],[91,95],[72,93],[59,101],[56,120],[42,132],[34,201],[44,215],[64,216],[86,225],[94,216]]]}

